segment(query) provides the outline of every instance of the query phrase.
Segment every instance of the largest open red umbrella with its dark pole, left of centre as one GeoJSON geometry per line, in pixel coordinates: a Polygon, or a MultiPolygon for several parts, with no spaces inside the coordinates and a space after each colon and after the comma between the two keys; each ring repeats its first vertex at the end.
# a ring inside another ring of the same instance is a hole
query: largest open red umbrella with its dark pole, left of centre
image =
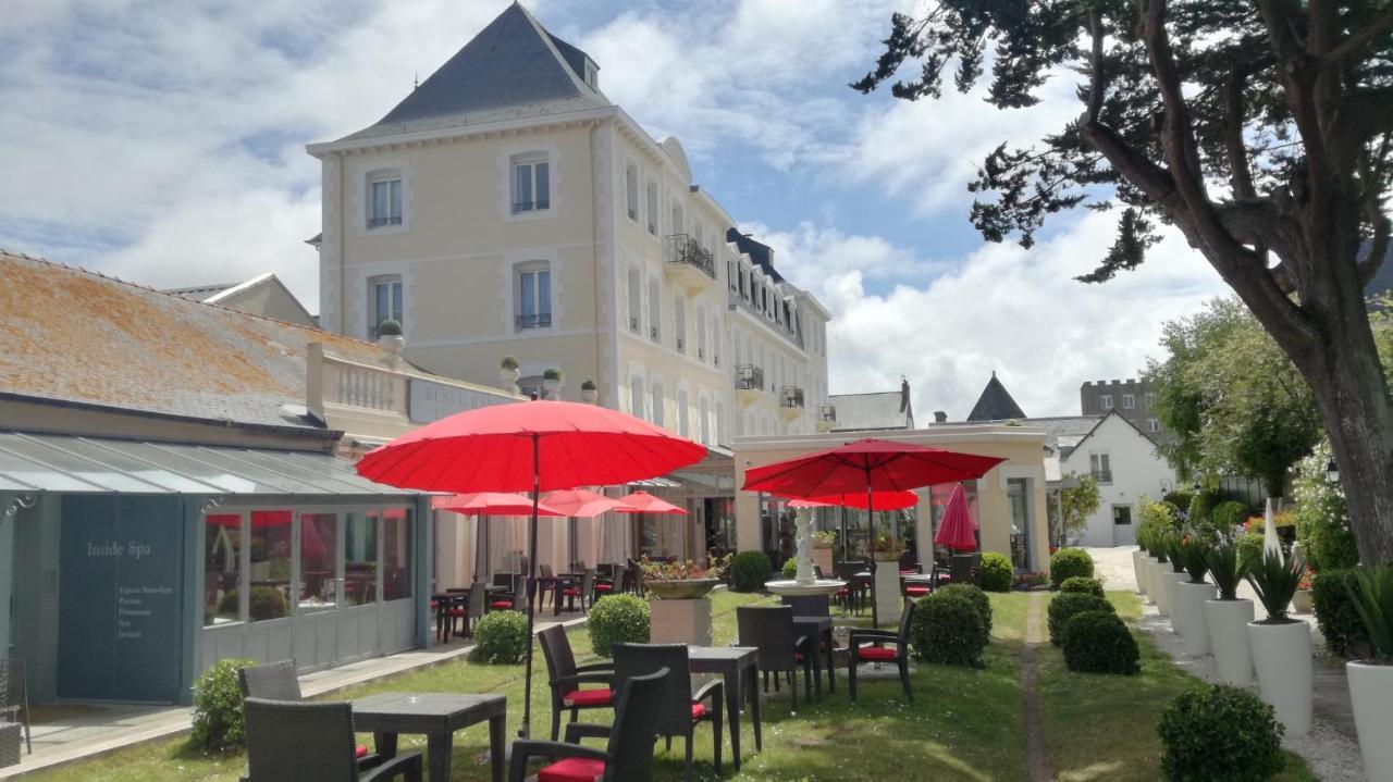
{"type": "MultiPolygon", "coordinates": [[[[403,434],[358,461],[358,474],[426,491],[531,491],[528,637],[536,614],[536,516],[542,491],[646,480],[699,462],[706,448],[617,410],[577,402],[514,402],[465,410],[403,434]]],[[[522,728],[532,722],[527,644],[522,728]]]]}

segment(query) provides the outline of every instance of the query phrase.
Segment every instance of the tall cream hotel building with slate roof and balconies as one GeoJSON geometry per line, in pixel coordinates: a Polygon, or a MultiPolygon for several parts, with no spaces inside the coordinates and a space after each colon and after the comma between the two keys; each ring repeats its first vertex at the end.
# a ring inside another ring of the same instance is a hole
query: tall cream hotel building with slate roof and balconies
{"type": "MultiPolygon", "coordinates": [[[[829,313],[599,74],[513,4],[379,122],[309,145],[323,167],[320,319],[361,338],[396,319],[404,355],[450,377],[492,383],[514,356],[524,394],[706,444],[705,463],[651,487],[698,523],[553,523],[542,559],[699,557],[736,543],[733,438],[811,434],[833,415],[829,313]]],[[[522,540],[501,527],[442,523],[443,557],[461,552],[442,569],[501,566],[522,540]]]]}

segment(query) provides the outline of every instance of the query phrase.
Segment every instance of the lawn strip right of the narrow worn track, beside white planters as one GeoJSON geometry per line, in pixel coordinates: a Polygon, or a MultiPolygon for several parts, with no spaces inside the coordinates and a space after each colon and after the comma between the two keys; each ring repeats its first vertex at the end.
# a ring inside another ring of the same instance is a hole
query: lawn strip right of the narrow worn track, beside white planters
{"type": "MultiPolygon", "coordinates": [[[[1141,600],[1133,593],[1107,593],[1107,600],[1128,623],[1141,615],[1141,600]]],[[[1177,668],[1146,633],[1134,629],[1133,635],[1142,665],[1135,676],[1070,673],[1063,654],[1048,640],[1036,654],[1045,742],[1064,782],[1159,778],[1156,722],[1172,699],[1199,682],[1177,668]]],[[[1287,753],[1287,769],[1277,779],[1304,782],[1315,775],[1305,761],[1287,753]]]]}

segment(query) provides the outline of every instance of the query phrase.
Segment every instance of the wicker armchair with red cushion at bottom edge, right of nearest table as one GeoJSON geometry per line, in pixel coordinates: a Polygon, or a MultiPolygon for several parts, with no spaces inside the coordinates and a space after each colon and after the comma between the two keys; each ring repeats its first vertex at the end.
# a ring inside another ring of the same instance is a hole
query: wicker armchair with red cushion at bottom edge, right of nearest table
{"type": "Polygon", "coordinates": [[[649,782],[653,778],[659,699],[663,683],[670,678],[664,668],[620,685],[612,726],[573,722],[566,726],[567,743],[513,742],[508,782],[524,782],[528,761],[535,757],[564,758],[538,771],[538,782],[649,782]],[[581,746],[581,739],[588,737],[609,739],[609,744],[603,750],[581,746]]]}

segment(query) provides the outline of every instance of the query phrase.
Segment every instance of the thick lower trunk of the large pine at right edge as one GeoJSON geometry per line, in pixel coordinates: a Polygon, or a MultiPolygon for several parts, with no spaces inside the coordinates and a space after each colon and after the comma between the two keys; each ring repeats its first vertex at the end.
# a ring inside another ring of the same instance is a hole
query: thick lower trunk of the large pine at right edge
{"type": "Polygon", "coordinates": [[[1364,308],[1341,320],[1314,365],[1297,366],[1330,434],[1360,559],[1393,564],[1393,399],[1364,308]]]}

